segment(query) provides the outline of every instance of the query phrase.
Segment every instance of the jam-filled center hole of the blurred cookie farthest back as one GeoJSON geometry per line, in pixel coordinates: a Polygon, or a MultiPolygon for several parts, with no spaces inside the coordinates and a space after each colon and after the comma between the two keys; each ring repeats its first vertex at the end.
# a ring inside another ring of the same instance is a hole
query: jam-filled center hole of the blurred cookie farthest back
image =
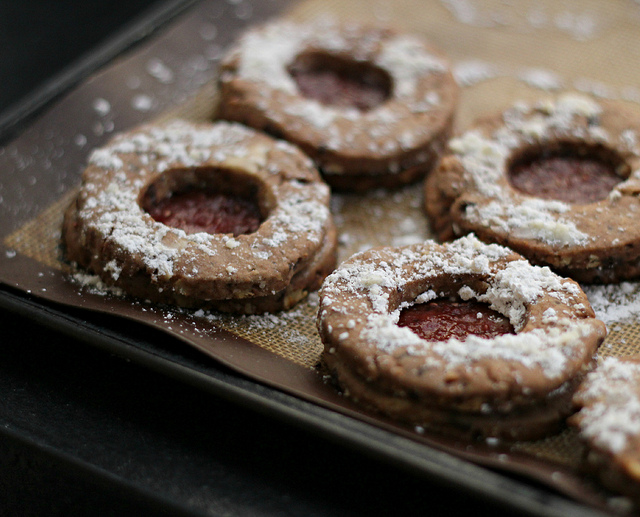
{"type": "Polygon", "coordinates": [[[307,53],[288,70],[304,97],[328,106],[368,111],[391,95],[389,74],[366,62],[307,53]]]}

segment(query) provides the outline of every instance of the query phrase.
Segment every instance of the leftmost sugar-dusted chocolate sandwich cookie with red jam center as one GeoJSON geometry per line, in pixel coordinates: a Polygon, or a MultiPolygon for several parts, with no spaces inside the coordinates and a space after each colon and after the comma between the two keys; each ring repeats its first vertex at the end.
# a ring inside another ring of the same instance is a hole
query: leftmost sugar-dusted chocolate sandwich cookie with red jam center
{"type": "Polygon", "coordinates": [[[291,144],[174,121],[94,151],[65,214],[67,257],[153,302],[289,308],[335,266],[329,188],[291,144]]]}

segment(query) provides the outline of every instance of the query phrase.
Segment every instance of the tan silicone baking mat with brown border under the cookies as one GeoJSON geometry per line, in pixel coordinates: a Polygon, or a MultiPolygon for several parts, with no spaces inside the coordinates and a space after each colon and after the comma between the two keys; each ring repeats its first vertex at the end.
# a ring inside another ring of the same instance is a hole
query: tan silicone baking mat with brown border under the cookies
{"type": "MultiPolygon", "coordinates": [[[[235,371],[473,462],[527,476],[594,508],[608,498],[582,474],[582,446],[565,430],[536,442],[457,443],[352,407],[325,382],[315,330],[317,297],[288,312],[233,317],[128,300],[72,270],[60,248],[62,213],[90,150],[115,132],[173,117],[208,120],[226,46],[275,14],[384,23],[426,35],[449,56],[461,86],[457,127],[518,99],[582,91],[639,109],[640,4],[629,1],[202,2],[61,99],[0,148],[0,280],[36,298],[123,316],[161,329],[235,371]],[[286,10],[283,12],[283,8],[286,10]],[[282,13],[282,14],[281,14],[282,13]]],[[[374,245],[431,237],[421,185],[334,195],[340,259],[374,245]]],[[[638,284],[585,287],[609,335],[601,354],[640,351],[638,284]]]]}

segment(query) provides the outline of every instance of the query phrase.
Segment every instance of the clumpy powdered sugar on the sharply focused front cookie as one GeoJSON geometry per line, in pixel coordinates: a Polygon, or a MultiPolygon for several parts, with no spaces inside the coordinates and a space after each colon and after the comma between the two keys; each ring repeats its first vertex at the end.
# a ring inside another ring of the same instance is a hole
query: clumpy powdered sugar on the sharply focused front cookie
{"type": "MultiPolygon", "coordinates": [[[[441,275],[460,278],[486,275],[488,288],[475,293],[468,286],[460,289],[463,299],[475,298],[488,303],[494,310],[509,318],[518,331],[525,322],[527,307],[540,297],[550,295],[566,305],[581,295],[579,287],[567,283],[546,267],[532,266],[524,260],[511,260],[496,269],[496,261],[512,252],[495,244],[484,244],[468,235],[446,245],[446,251],[435,250],[433,243],[425,248],[398,248],[395,252],[369,251],[356,255],[342,264],[327,280],[322,290],[323,308],[349,313],[349,302],[336,306],[336,300],[347,296],[369,300],[372,313],[367,316],[360,337],[386,353],[401,348],[412,355],[428,357],[441,367],[469,364],[481,358],[500,358],[517,361],[526,368],[540,368],[554,378],[563,374],[569,358],[582,346],[582,338],[591,331],[588,323],[566,318],[547,318],[548,328],[537,328],[516,335],[495,339],[468,337],[446,343],[432,343],[397,325],[400,310],[390,306],[390,293],[403,292],[411,283],[423,282],[426,287],[420,300],[432,299],[430,279],[441,275]],[[391,253],[390,256],[387,253],[391,253]],[[434,355],[435,354],[435,355],[434,355]]],[[[408,302],[410,305],[412,302],[408,302]]],[[[434,363],[435,364],[435,363],[434,363]]]]}

